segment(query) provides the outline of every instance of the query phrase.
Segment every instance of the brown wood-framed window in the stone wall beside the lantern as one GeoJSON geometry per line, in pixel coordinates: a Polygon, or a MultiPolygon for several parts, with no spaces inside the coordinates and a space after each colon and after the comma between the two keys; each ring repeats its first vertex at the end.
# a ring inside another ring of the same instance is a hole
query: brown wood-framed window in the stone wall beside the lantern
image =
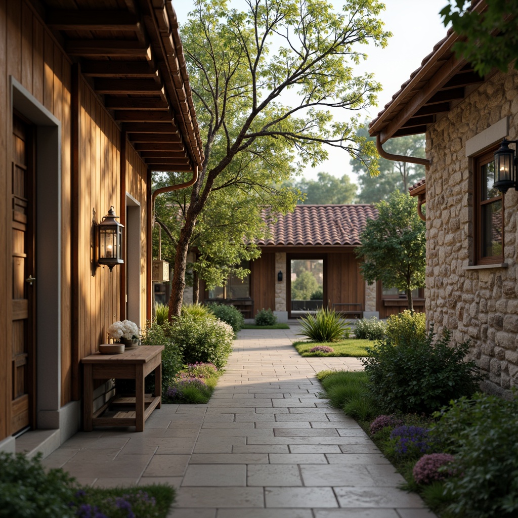
{"type": "Polygon", "coordinates": [[[503,196],[493,189],[494,151],[475,162],[475,252],[478,264],[503,262],[503,196]]]}

